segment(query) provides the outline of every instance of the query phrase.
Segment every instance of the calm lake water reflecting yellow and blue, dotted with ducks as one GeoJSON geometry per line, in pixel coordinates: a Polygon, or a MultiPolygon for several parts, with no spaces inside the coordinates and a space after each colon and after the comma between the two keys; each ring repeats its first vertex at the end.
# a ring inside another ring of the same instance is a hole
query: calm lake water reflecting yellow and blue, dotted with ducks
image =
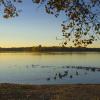
{"type": "Polygon", "coordinates": [[[0,53],[0,83],[100,83],[99,68],[97,52],[0,53]]]}

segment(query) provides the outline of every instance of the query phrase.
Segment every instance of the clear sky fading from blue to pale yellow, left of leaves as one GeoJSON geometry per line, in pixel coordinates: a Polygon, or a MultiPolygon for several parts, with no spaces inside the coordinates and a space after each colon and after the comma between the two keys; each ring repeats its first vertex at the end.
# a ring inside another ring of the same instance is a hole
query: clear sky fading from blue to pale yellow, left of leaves
{"type": "MultiPolygon", "coordinates": [[[[25,46],[58,46],[61,41],[61,23],[63,16],[55,18],[46,14],[42,6],[36,6],[32,0],[24,0],[17,5],[22,9],[18,17],[4,19],[0,15],[0,47],[25,47],[25,46]]],[[[95,47],[99,46],[96,43],[95,47]]]]}

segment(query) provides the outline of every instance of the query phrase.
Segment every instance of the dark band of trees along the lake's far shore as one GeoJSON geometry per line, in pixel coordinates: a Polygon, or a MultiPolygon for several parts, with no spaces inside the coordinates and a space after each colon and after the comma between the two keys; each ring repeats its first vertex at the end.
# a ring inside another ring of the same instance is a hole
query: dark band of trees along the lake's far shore
{"type": "Polygon", "coordinates": [[[72,47],[17,47],[0,48],[0,52],[100,52],[100,48],[72,48],[72,47]]]}

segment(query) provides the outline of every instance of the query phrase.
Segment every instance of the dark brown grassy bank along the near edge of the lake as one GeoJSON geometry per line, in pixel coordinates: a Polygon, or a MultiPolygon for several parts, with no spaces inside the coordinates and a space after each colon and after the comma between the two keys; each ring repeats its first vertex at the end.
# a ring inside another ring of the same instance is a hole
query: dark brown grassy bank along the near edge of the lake
{"type": "Polygon", "coordinates": [[[0,84],[0,100],[100,100],[100,85],[0,84]]]}

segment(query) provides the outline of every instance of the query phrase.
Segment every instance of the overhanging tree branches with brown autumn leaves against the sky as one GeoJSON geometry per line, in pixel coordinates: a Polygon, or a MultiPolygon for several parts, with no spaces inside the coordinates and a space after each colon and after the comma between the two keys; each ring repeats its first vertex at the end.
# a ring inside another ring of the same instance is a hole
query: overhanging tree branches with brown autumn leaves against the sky
{"type": "MultiPolygon", "coordinates": [[[[4,5],[4,17],[18,16],[14,2],[24,0],[0,0],[4,5]]],[[[64,45],[72,41],[75,46],[87,46],[99,40],[100,36],[100,0],[32,0],[44,4],[48,14],[66,17],[61,24],[64,45]]]]}

